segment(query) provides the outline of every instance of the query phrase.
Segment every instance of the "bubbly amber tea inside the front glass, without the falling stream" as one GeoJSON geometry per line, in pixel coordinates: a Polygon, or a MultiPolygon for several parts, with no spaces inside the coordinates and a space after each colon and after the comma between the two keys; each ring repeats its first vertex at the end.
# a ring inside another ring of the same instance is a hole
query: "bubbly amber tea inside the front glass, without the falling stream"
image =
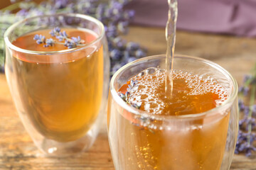
{"type": "MultiPolygon", "coordinates": [[[[119,93],[128,92],[124,100],[151,115],[203,113],[228,97],[225,88],[210,77],[202,79],[191,72],[178,71],[173,73],[172,96],[166,98],[165,76],[164,69],[146,69],[124,84],[119,93]]],[[[218,120],[207,120],[212,123],[204,129],[178,130],[177,124],[176,130],[169,131],[150,124],[139,125],[128,115],[124,112],[117,116],[124,139],[123,143],[114,144],[124,148],[119,157],[129,162],[127,169],[220,169],[229,113],[218,120]]],[[[196,120],[197,126],[205,124],[204,121],[196,120]]]]}

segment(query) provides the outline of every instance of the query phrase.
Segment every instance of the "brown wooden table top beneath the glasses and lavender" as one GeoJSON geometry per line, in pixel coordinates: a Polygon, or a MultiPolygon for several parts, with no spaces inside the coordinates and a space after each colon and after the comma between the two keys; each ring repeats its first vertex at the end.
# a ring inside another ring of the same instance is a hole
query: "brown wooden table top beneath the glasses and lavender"
{"type": "MultiPolygon", "coordinates": [[[[163,54],[166,50],[163,28],[132,27],[124,38],[139,42],[148,49],[148,55],[163,54]]],[[[212,60],[233,74],[240,84],[243,75],[256,62],[256,39],[178,31],[176,53],[212,60]]],[[[11,100],[6,78],[0,74],[0,170],[5,169],[114,170],[106,125],[102,125],[100,135],[88,152],[77,157],[45,157],[36,149],[23,128],[11,100]]],[[[235,155],[231,169],[256,169],[256,157],[249,159],[235,155]]]]}

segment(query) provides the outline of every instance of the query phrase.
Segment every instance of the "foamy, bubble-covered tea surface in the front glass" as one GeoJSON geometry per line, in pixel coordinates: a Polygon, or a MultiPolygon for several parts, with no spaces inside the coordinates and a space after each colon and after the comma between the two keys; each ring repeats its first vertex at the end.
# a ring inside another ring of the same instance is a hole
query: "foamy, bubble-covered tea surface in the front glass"
{"type": "MultiPolygon", "coordinates": [[[[127,101],[137,104],[142,111],[158,115],[187,115],[203,113],[219,106],[228,92],[211,77],[203,78],[190,72],[173,72],[174,88],[166,96],[164,69],[149,68],[132,79],[135,86],[129,90],[127,101]]],[[[128,84],[122,86],[124,92],[128,84]]]]}

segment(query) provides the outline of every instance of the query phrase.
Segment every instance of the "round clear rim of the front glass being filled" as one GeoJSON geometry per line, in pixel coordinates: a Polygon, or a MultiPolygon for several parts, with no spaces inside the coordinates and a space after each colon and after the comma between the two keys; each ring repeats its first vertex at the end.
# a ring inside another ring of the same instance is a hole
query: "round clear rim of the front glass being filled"
{"type": "Polygon", "coordinates": [[[148,117],[148,118],[151,118],[154,120],[169,120],[169,119],[171,120],[171,119],[178,119],[178,118],[200,118],[201,116],[205,116],[205,115],[216,115],[216,114],[218,114],[219,110],[223,110],[223,109],[225,110],[225,108],[230,107],[230,105],[233,103],[233,101],[235,101],[235,98],[238,95],[238,83],[226,69],[221,67],[219,64],[216,64],[215,62],[203,59],[201,57],[192,57],[192,56],[188,56],[188,55],[178,55],[177,54],[177,55],[174,55],[175,58],[182,57],[182,58],[189,58],[189,59],[194,59],[194,60],[198,60],[201,62],[205,62],[208,65],[215,67],[215,69],[218,69],[223,74],[227,75],[234,85],[234,89],[231,91],[230,96],[228,96],[228,98],[223,103],[221,103],[220,106],[218,106],[218,107],[212,108],[209,111],[206,111],[203,113],[194,113],[194,114],[188,114],[188,115],[152,115],[152,114],[148,113],[147,111],[141,111],[137,108],[129,106],[125,101],[122,100],[122,98],[119,97],[119,95],[117,94],[117,91],[114,89],[115,79],[117,79],[119,74],[122,74],[122,72],[125,69],[127,69],[128,67],[132,66],[135,63],[142,62],[144,60],[154,60],[154,59],[163,58],[163,57],[165,58],[166,55],[152,55],[149,57],[143,57],[139,60],[134,60],[133,62],[129,62],[128,64],[125,64],[123,67],[121,67],[119,70],[117,70],[117,72],[114,73],[112,79],[110,80],[110,93],[111,93],[114,101],[116,101],[119,104],[119,106],[121,106],[122,108],[127,110],[129,113],[132,113],[134,115],[142,115],[144,117],[148,117]]]}

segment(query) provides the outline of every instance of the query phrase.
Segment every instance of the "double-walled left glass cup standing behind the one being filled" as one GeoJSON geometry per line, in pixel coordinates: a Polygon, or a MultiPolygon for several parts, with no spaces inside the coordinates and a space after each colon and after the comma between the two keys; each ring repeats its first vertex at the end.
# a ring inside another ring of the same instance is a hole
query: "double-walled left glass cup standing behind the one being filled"
{"type": "Polygon", "coordinates": [[[14,23],[4,41],[6,79],[18,115],[36,146],[53,156],[88,149],[100,129],[110,79],[102,23],[75,13],[36,16],[14,23]],[[44,51],[43,46],[43,50],[29,49],[36,45],[33,38],[24,40],[23,48],[14,45],[23,35],[43,30],[49,35],[56,27],[86,32],[85,38],[94,36],[94,40],[55,51],[44,51]]]}

